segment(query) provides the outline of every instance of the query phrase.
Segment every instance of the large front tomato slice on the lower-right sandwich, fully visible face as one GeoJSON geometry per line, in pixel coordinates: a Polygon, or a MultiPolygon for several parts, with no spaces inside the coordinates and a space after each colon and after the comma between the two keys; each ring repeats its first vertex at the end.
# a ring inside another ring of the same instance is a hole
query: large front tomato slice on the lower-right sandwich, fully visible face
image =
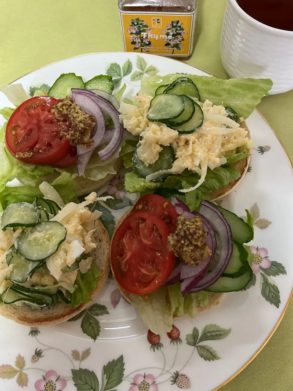
{"type": "Polygon", "coordinates": [[[111,265],[117,282],[134,294],[147,294],[168,280],[175,264],[169,251],[170,229],[149,212],[133,212],[114,233],[111,265]]]}

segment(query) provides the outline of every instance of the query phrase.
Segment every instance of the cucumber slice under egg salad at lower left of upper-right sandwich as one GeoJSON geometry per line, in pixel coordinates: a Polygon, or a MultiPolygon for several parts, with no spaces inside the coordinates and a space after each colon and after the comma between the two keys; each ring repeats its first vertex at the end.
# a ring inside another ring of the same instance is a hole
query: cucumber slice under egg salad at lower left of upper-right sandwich
{"type": "MultiPolygon", "coordinates": [[[[134,151],[134,155],[132,158],[134,168],[138,172],[138,175],[141,178],[147,178],[148,175],[153,174],[154,172],[160,170],[169,170],[172,168],[173,161],[175,160],[175,153],[172,147],[170,146],[162,146],[162,151],[159,152],[159,159],[155,161],[154,164],[149,164],[148,166],[143,163],[143,161],[139,160],[137,156],[137,150],[139,148],[139,143],[136,146],[134,151]]],[[[154,182],[160,182],[164,179],[168,174],[163,174],[158,178],[154,179],[154,182]]]]}

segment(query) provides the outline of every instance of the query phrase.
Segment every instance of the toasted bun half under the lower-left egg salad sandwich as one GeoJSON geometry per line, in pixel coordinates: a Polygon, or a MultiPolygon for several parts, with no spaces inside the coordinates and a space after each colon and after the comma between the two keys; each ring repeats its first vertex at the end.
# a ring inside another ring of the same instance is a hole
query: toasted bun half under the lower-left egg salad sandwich
{"type": "MultiPolygon", "coordinates": [[[[93,300],[104,287],[110,271],[110,238],[99,219],[95,221],[95,232],[93,233],[96,248],[89,253],[93,257],[102,275],[98,277],[98,285],[94,292],[90,294],[93,300]]],[[[0,315],[26,326],[52,326],[64,322],[84,310],[91,301],[73,308],[71,304],[58,302],[54,308],[36,310],[27,305],[5,305],[0,304],[0,315]]]]}

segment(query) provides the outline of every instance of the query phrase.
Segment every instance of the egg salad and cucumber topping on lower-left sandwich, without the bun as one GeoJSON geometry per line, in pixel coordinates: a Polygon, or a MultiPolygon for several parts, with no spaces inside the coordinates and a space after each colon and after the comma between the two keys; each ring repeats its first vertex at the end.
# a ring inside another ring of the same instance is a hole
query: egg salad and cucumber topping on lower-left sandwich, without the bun
{"type": "Polygon", "coordinates": [[[39,188],[44,198],[10,204],[0,217],[0,294],[13,286],[14,293],[26,295],[14,304],[34,308],[46,304],[42,297],[34,300],[36,293],[70,303],[83,276],[84,282],[96,280],[100,272],[90,253],[96,248],[95,221],[102,213],[87,206],[112,198],[93,192],[79,204],[64,205],[48,183],[39,188]]]}

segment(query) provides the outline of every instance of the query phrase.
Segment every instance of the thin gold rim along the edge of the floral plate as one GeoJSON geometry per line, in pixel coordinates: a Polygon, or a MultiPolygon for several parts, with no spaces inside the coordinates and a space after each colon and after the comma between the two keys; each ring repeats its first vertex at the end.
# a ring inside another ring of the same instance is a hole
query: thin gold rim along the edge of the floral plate
{"type": "MultiPolygon", "coordinates": [[[[59,62],[64,61],[64,60],[69,60],[69,59],[71,59],[71,58],[77,58],[77,57],[82,57],[82,56],[90,56],[90,55],[92,55],[92,54],[107,54],[107,53],[127,53],[127,52],[125,52],[125,51],[119,51],[119,52],[98,52],[98,53],[80,54],[79,56],[73,56],[73,57],[64,58],[63,60],[54,61],[53,63],[47,64],[47,65],[43,65],[43,66],[40,66],[39,68],[36,68],[36,69],[34,69],[34,70],[30,71],[30,72],[27,72],[25,75],[22,75],[22,76],[18,77],[17,79],[11,81],[11,83],[14,83],[14,81],[17,81],[18,79],[21,79],[21,77],[24,77],[24,76],[26,76],[26,75],[28,75],[28,74],[30,74],[30,73],[32,73],[32,72],[35,72],[35,71],[37,71],[37,70],[39,70],[39,69],[41,69],[41,68],[45,68],[46,66],[53,65],[53,64],[59,63],[59,62]]],[[[144,54],[147,54],[148,56],[159,56],[158,54],[149,54],[149,53],[144,53],[144,54]]],[[[195,68],[195,69],[198,69],[198,70],[200,70],[200,71],[202,71],[202,72],[205,72],[205,73],[209,74],[208,72],[206,72],[205,70],[203,70],[203,69],[201,69],[201,68],[198,68],[197,66],[188,64],[186,61],[177,60],[177,59],[174,59],[174,58],[170,58],[170,57],[168,57],[168,56],[166,56],[166,57],[167,57],[168,59],[170,59],[170,60],[178,61],[179,63],[185,63],[185,64],[187,64],[187,65],[189,65],[189,66],[192,66],[192,67],[195,68]]],[[[211,74],[209,74],[209,75],[211,75],[211,74]]],[[[211,76],[214,76],[214,75],[211,75],[211,76]]],[[[215,76],[214,76],[214,77],[215,77],[215,76]]],[[[9,83],[9,84],[11,84],[11,83],[9,83]]],[[[266,118],[264,118],[264,116],[263,116],[257,109],[255,109],[255,111],[261,116],[261,118],[263,118],[264,122],[266,122],[266,124],[270,127],[270,129],[271,129],[271,131],[273,132],[273,134],[276,136],[277,140],[279,141],[280,145],[282,146],[282,148],[283,148],[283,150],[284,150],[284,152],[285,152],[285,154],[286,154],[286,156],[287,156],[287,159],[288,159],[288,161],[289,161],[291,170],[293,171],[293,164],[292,164],[292,162],[291,162],[291,160],[290,160],[290,158],[289,158],[289,155],[288,155],[286,149],[284,148],[284,145],[282,144],[282,142],[281,142],[279,136],[275,133],[275,131],[274,131],[273,128],[270,126],[270,124],[268,123],[268,121],[266,120],[266,118]]],[[[266,344],[268,343],[268,341],[270,341],[270,339],[271,339],[272,335],[274,334],[274,332],[277,330],[277,327],[279,326],[281,320],[283,319],[283,317],[284,317],[284,315],[285,315],[286,310],[288,309],[288,306],[289,306],[289,304],[290,304],[290,301],[291,301],[292,297],[293,297],[293,288],[292,288],[291,294],[290,294],[290,296],[289,296],[289,298],[288,298],[288,301],[287,301],[287,303],[286,303],[286,305],[285,305],[285,307],[284,307],[284,310],[282,311],[282,314],[280,315],[280,317],[279,317],[277,323],[275,324],[275,326],[272,328],[272,331],[270,332],[270,334],[268,335],[268,337],[264,340],[264,342],[261,344],[261,346],[260,346],[260,347],[257,349],[257,351],[254,353],[254,355],[252,355],[252,357],[250,357],[250,359],[249,359],[247,362],[245,362],[245,364],[243,364],[243,366],[242,366],[241,368],[239,368],[238,371],[236,371],[235,373],[233,373],[233,375],[231,375],[231,376],[230,376],[228,379],[226,379],[222,384],[220,384],[220,386],[217,386],[216,388],[214,388],[213,391],[218,391],[220,388],[222,388],[223,386],[225,386],[226,384],[228,384],[228,383],[230,382],[230,380],[234,379],[234,377],[236,377],[237,375],[239,375],[239,373],[242,372],[243,369],[246,368],[246,367],[248,366],[248,364],[250,364],[250,362],[252,362],[252,361],[255,359],[255,357],[258,355],[258,353],[261,352],[261,350],[263,350],[264,346],[266,346],[266,344]]]]}

